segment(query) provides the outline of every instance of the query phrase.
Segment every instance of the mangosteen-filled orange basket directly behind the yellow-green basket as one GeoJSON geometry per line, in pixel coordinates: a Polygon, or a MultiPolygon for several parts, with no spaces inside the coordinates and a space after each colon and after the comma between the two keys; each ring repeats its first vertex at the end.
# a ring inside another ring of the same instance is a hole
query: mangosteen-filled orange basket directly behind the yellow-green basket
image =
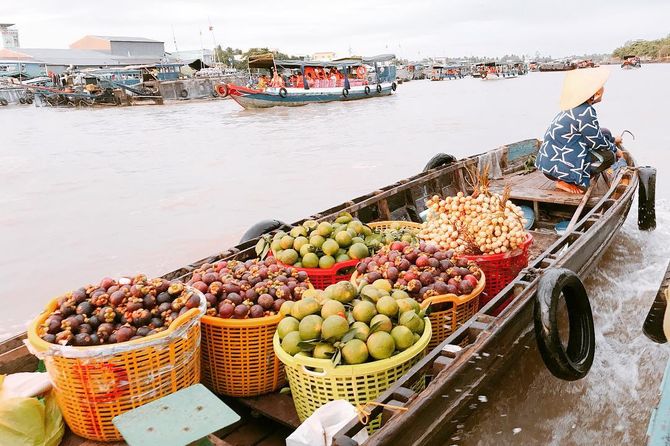
{"type": "Polygon", "coordinates": [[[352,282],[362,287],[361,294],[373,300],[379,293],[370,284],[385,281],[390,283],[394,298],[411,297],[422,308],[430,307],[431,349],[474,316],[486,284],[475,262],[423,241],[418,246],[393,242],[363,259],[352,276],[352,282]]]}

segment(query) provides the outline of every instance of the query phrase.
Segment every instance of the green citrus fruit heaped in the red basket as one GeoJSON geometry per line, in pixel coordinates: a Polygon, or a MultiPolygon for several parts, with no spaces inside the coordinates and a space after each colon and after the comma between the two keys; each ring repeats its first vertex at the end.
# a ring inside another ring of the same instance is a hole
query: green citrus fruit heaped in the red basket
{"type": "Polygon", "coordinates": [[[270,249],[285,265],[297,268],[330,268],[335,263],[358,260],[370,255],[365,238],[372,230],[349,213],[333,222],[307,220],[287,233],[277,232],[270,249]]]}

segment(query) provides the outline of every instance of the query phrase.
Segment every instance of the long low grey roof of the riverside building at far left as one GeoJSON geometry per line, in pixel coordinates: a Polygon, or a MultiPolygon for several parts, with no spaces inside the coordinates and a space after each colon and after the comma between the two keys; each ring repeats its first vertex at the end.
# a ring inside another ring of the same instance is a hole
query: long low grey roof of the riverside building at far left
{"type": "Polygon", "coordinates": [[[125,57],[101,51],[69,48],[17,48],[14,52],[29,56],[30,62],[43,62],[47,65],[108,66],[160,62],[160,58],[125,57]]]}

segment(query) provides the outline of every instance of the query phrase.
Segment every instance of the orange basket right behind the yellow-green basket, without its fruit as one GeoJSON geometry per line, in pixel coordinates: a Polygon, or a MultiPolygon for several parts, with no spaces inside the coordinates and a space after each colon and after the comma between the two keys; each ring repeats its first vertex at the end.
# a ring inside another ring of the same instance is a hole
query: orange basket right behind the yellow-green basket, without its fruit
{"type": "MultiPolygon", "coordinates": [[[[358,287],[358,271],[354,271],[354,274],[351,276],[351,283],[358,287]]],[[[429,350],[432,350],[447,339],[458,327],[477,313],[479,309],[479,295],[482,294],[485,287],[486,277],[482,272],[482,277],[479,279],[477,287],[470,294],[465,296],[441,294],[429,297],[421,302],[421,308],[433,306],[428,315],[430,324],[433,327],[433,337],[428,344],[429,350]]]]}

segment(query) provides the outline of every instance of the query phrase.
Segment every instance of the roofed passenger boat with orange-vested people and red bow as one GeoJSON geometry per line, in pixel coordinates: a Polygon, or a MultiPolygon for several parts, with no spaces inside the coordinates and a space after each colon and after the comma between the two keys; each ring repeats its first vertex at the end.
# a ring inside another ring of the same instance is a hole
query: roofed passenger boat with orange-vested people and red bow
{"type": "Polygon", "coordinates": [[[250,71],[256,70],[253,86],[228,84],[226,89],[244,108],[295,107],[389,96],[397,88],[394,59],[394,55],[387,54],[316,62],[261,55],[249,59],[250,71]]]}

